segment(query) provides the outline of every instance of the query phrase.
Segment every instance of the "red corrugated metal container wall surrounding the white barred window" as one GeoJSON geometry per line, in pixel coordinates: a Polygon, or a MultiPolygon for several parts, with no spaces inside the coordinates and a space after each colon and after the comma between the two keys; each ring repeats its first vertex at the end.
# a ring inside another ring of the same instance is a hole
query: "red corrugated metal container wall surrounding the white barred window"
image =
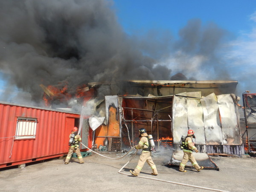
{"type": "Polygon", "coordinates": [[[0,103],[0,168],[62,156],[80,115],[0,103]],[[15,139],[17,117],[37,119],[35,139],[15,139]]]}

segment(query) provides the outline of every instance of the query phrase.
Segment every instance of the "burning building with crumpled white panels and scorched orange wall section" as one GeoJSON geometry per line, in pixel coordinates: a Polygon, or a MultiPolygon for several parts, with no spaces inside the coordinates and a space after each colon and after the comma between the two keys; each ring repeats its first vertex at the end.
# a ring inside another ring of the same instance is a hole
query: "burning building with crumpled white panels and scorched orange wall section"
{"type": "Polygon", "coordinates": [[[239,98],[232,93],[236,84],[237,81],[90,83],[84,95],[89,90],[96,95],[87,99],[84,106],[87,115],[90,113],[90,127],[95,130],[93,144],[108,145],[109,140],[121,138],[123,148],[133,146],[138,142],[138,129],[143,127],[153,135],[158,148],[177,149],[180,137],[193,129],[201,152],[240,155],[243,145],[239,98]],[[109,87],[108,93],[116,96],[99,99],[102,87],[109,87]],[[187,92],[181,93],[182,90],[187,92]]]}

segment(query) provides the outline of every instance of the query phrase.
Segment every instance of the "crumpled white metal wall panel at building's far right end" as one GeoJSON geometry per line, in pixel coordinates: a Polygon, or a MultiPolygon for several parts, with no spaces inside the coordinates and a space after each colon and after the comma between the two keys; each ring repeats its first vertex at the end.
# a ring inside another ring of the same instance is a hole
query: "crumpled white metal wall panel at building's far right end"
{"type": "Polygon", "coordinates": [[[230,94],[219,95],[218,108],[221,115],[221,130],[223,144],[240,145],[241,137],[238,119],[236,116],[236,104],[230,94]]]}

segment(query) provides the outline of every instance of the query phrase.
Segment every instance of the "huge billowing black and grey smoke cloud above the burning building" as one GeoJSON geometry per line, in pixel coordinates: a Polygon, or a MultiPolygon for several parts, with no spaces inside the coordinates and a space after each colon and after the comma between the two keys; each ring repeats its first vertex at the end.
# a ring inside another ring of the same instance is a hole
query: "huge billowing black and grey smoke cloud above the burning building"
{"type": "Polygon", "coordinates": [[[189,72],[191,55],[206,58],[197,67],[218,73],[221,61],[215,50],[222,29],[213,24],[203,28],[193,20],[180,30],[178,42],[170,33],[160,39],[151,32],[135,38],[123,32],[112,6],[107,0],[0,1],[0,70],[9,86],[41,102],[40,84],[67,84],[73,93],[88,82],[169,80],[175,75],[172,66],[175,73],[195,79],[189,72]]]}

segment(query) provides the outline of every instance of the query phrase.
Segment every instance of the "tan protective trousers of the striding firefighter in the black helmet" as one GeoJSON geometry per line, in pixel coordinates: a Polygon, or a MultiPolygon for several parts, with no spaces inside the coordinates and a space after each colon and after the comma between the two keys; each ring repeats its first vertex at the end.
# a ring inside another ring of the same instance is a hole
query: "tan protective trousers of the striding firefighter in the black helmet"
{"type": "Polygon", "coordinates": [[[153,174],[157,175],[157,167],[155,166],[152,158],[151,158],[151,152],[150,151],[144,151],[140,155],[140,159],[138,161],[138,164],[136,168],[134,169],[134,174],[139,175],[141,169],[143,168],[145,162],[148,163],[148,165],[151,167],[153,174]]]}

